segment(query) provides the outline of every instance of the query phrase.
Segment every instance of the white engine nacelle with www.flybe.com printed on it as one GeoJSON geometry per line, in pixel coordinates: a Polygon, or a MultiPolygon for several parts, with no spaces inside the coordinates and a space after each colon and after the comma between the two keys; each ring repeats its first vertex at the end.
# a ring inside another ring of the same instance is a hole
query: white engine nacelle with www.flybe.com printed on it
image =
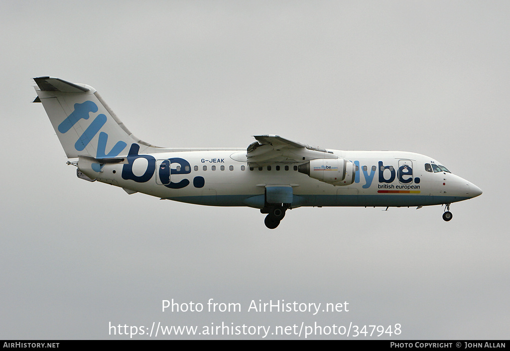
{"type": "Polygon", "coordinates": [[[311,178],[333,185],[354,183],[356,168],[346,159],[315,159],[299,165],[298,171],[311,178]]]}

